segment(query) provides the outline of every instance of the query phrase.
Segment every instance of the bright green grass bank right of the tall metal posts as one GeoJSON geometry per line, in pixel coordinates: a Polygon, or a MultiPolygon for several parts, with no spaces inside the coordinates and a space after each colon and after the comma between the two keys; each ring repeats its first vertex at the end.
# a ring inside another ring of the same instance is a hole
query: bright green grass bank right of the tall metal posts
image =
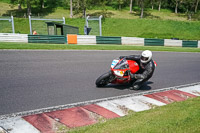
{"type": "Polygon", "coordinates": [[[103,35],[199,40],[200,23],[154,19],[105,19],[103,35]],[[112,24],[112,26],[111,26],[112,24]]]}

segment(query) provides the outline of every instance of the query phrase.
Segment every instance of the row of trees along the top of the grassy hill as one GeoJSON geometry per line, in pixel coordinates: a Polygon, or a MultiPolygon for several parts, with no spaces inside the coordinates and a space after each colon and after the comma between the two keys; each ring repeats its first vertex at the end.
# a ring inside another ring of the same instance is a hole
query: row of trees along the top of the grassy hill
{"type": "Polygon", "coordinates": [[[188,19],[198,12],[200,0],[10,0],[12,4],[18,4],[18,10],[27,8],[27,15],[31,15],[32,7],[38,9],[64,7],[70,10],[70,17],[73,18],[74,13],[83,13],[86,15],[86,10],[94,7],[100,7],[106,10],[107,6],[117,10],[122,10],[125,7],[130,8],[130,13],[133,12],[133,7],[139,7],[140,18],[144,16],[145,8],[152,10],[170,9],[174,13],[185,13],[188,19]]]}

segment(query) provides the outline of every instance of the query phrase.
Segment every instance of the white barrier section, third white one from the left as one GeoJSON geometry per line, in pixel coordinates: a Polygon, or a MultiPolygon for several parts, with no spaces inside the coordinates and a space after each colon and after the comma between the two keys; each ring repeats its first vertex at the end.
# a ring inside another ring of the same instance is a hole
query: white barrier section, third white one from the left
{"type": "Polygon", "coordinates": [[[144,38],[122,37],[122,45],[139,45],[139,46],[144,46],[144,38]]]}

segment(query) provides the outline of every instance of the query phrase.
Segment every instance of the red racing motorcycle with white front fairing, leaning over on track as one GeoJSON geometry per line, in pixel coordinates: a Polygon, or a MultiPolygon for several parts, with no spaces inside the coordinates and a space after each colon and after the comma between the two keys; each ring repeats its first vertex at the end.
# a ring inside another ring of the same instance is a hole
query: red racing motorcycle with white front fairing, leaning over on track
{"type": "MultiPolygon", "coordinates": [[[[155,66],[157,65],[154,61],[155,66]]],[[[125,84],[133,82],[130,72],[135,74],[140,69],[138,63],[133,60],[114,59],[111,64],[111,70],[104,73],[96,80],[97,87],[104,87],[108,84],[125,84]]]]}

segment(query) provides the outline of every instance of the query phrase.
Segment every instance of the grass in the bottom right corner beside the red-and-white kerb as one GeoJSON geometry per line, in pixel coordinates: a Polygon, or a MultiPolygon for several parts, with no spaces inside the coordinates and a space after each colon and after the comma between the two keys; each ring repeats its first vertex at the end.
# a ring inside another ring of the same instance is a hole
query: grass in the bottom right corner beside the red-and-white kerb
{"type": "Polygon", "coordinates": [[[200,97],[72,130],[70,133],[199,133],[200,97]]]}

